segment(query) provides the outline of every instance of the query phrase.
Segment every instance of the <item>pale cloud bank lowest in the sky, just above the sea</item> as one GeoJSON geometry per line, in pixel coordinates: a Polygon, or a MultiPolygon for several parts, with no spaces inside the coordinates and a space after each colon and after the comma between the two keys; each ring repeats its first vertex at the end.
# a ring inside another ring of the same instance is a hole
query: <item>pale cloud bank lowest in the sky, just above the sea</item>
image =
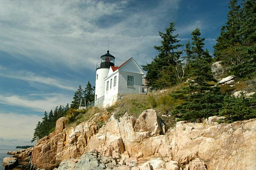
{"type": "Polygon", "coordinates": [[[0,144],[28,144],[42,116],[0,112],[0,144]]]}

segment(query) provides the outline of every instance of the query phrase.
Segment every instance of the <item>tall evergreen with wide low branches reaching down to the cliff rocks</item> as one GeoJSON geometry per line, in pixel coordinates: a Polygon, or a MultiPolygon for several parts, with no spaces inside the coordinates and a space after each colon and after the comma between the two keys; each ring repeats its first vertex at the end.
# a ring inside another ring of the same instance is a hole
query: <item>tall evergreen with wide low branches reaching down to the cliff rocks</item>
{"type": "Polygon", "coordinates": [[[196,28],[192,33],[192,43],[186,45],[188,61],[186,67],[192,78],[189,86],[176,94],[174,98],[183,100],[184,103],[176,107],[172,112],[180,120],[195,120],[196,118],[209,117],[218,114],[222,106],[223,95],[219,87],[208,84],[214,80],[211,74],[211,56],[208,50],[204,50],[204,38],[200,38],[200,30],[196,28]]]}

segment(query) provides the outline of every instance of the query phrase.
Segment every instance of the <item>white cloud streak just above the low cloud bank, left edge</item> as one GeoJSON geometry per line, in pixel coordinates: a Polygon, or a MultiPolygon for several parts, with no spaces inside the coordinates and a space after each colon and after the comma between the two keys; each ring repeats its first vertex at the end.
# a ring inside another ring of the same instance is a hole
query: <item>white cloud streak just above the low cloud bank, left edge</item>
{"type": "Polygon", "coordinates": [[[10,106],[20,106],[24,108],[30,108],[31,110],[44,112],[45,110],[54,109],[58,105],[66,105],[70,103],[70,96],[61,94],[41,95],[41,99],[35,99],[32,96],[18,96],[18,95],[1,95],[0,104],[6,104],[10,106]]]}

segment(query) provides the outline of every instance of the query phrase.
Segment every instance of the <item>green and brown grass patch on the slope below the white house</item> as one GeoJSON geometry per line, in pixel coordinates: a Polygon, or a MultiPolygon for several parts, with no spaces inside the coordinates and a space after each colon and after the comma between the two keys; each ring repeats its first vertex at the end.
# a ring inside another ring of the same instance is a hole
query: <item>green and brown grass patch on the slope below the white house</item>
{"type": "Polygon", "coordinates": [[[114,112],[115,118],[119,119],[126,112],[129,116],[138,118],[144,110],[152,108],[156,110],[158,116],[162,119],[164,124],[166,124],[167,128],[173,127],[176,122],[171,112],[174,107],[181,104],[182,101],[172,98],[170,94],[187,85],[187,83],[182,83],[178,86],[162,91],[150,92],[146,95],[127,94],[114,106],[107,108],[107,110],[108,112],[114,112]]]}

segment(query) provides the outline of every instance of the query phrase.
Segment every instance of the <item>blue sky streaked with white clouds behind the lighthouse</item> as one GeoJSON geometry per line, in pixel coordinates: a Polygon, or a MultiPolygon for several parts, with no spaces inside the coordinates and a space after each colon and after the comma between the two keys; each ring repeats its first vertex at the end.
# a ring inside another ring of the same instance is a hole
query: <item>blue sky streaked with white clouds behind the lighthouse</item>
{"type": "MultiPolygon", "coordinates": [[[[119,65],[158,54],[158,32],[175,23],[181,44],[200,28],[210,53],[228,0],[0,0],[0,145],[30,145],[44,111],[95,84],[109,50],[119,65]]],[[[184,49],[183,47],[182,49],[184,49]]]]}

